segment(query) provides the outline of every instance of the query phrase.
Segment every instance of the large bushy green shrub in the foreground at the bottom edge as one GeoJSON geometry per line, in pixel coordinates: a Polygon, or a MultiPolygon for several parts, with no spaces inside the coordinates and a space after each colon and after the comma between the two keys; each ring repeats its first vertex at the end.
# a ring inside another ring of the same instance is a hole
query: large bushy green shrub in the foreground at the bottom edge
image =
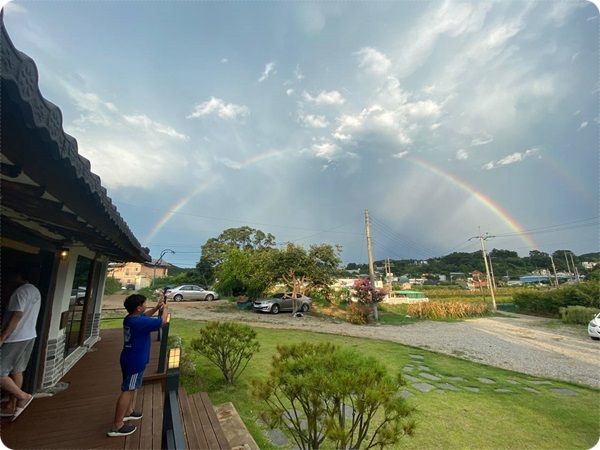
{"type": "Polygon", "coordinates": [[[399,395],[402,376],[390,377],[374,358],[328,343],[277,351],[254,395],[266,403],[265,421],[287,429],[301,449],[325,440],[337,449],[384,448],[412,434],[413,409],[399,395]]]}

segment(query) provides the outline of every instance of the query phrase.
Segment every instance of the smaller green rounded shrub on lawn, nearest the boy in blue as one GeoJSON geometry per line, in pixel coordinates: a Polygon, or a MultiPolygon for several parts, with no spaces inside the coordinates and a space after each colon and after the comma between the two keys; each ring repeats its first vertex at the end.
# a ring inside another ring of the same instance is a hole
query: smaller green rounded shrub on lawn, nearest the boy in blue
{"type": "Polygon", "coordinates": [[[216,365],[225,381],[233,384],[252,355],[260,348],[256,332],[247,325],[209,322],[192,340],[192,348],[216,365]]]}

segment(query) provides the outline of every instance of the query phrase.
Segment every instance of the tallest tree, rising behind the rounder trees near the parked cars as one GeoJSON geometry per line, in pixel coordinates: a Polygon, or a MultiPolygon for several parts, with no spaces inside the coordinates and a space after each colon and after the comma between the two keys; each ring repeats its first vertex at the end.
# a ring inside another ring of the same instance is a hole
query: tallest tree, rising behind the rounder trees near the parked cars
{"type": "Polygon", "coordinates": [[[206,241],[201,248],[202,254],[196,268],[212,283],[215,271],[223,262],[229,249],[261,250],[272,248],[274,245],[275,236],[271,233],[264,233],[248,226],[228,228],[218,237],[206,241]]]}

